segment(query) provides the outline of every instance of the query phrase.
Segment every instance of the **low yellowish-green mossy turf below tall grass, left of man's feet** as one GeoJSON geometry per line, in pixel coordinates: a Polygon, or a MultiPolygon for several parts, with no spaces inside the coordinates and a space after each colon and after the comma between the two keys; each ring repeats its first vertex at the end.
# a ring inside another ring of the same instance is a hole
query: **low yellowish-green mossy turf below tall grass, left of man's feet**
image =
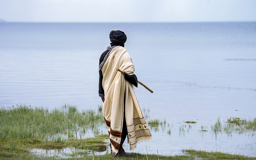
{"type": "Polygon", "coordinates": [[[31,148],[61,149],[66,147],[74,147],[77,149],[83,149],[82,152],[87,152],[87,150],[101,152],[106,151],[107,149],[108,144],[105,141],[107,138],[109,138],[109,135],[99,135],[94,138],[82,140],[65,140],[63,143],[50,141],[47,144],[34,138],[24,140],[0,140],[0,159],[40,159],[28,151],[28,149],[31,148]]]}

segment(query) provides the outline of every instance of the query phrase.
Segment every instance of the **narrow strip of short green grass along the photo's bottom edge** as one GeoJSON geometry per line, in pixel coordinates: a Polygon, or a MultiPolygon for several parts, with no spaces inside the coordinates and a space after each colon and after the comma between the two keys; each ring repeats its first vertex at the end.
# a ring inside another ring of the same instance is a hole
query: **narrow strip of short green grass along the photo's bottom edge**
{"type": "MultiPolygon", "coordinates": [[[[1,151],[1,148],[0,148],[1,151]]],[[[53,160],[58,156],[52,157],[38,157],[35,155],[28,154],[24,150],[19,151],[6,151],[7,153],[3,156],[0,152],[0,158],[6,160],[21,160],[21,159],[34,159],[34,160],[53,160]]],[[[168,153],[167,153],[168,154],[168,153]]],[[[104,154],[100,156],[88,156],[87,152],[74,151],[71,153],[73,156],[79,155],[80,157],[69,157],[69,158],[58,158],[60,160],[255,160],[256,157],[247,157],[241,155],[231,155],[221,152],[206,152],[197,150],[183,150],[183,154],[176,156],[160,156],[160,155],[145,155],[139,153],[131,153],[132,157],[112,157],[110,154],[104,154]]]]}

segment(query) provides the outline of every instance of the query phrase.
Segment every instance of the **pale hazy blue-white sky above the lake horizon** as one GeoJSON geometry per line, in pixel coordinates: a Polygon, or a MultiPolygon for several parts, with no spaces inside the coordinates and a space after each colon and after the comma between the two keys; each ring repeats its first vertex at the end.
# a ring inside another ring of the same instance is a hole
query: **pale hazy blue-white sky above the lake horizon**
{"type": "Polygon", "coordinates": [[[0,0],[0,21],[256,21],[256,0],[0,0]]]}

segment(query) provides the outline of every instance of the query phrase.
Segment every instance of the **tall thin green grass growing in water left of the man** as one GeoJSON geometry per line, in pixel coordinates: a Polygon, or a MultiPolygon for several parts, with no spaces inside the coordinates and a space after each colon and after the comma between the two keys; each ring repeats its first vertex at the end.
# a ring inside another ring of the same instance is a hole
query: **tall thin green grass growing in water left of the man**
{"type": "Polygon", "coordinates": [[[101,112],[92,109],[78,112],[76,106],[70,105],[51,111],[27,106],[0,109],[0,139],[63,142],[70,138],[82,139],[88,131],[98,135],[104,124],[101,112]]]}

